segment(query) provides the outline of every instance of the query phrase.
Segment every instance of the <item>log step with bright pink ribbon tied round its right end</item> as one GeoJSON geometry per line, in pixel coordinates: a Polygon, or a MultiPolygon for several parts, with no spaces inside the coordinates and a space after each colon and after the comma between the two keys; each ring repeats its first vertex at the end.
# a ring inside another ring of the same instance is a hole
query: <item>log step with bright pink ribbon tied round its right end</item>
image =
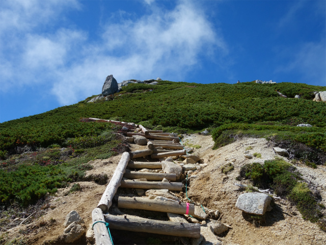
{"type": "Polygon", "coordinates": [[[144,209],[158,212],[179,213],[194,215],[194,204],[179,202],[165,202],[160,200],[150,200],[144,198],[125,198],[119,197],[119,208],[144,209]],[[188,207],[187,207],[188,206],[188,207]]]}

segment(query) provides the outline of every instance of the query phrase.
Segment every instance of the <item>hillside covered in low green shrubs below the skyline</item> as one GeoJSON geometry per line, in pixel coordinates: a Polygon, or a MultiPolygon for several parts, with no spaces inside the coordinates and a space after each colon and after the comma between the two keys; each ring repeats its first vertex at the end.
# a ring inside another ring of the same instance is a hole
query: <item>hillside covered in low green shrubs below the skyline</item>
{"type": "MultiPolygon", "coordinates": [[[[326,104],[313,101],[315,91],[325,90],[295,83],[128,84],[107,100],[89,103],[93,95],[71,106],[3,122],[1,205],[35,203],[69,182],[82,180],[91,168],[89,160],[125,149],[121,125],[85,119],[90,117],[179,134],[207,128],[215,148],[241,136],[265,137],[307,165],[325,164],[326,104]]],[[[93,178],[106,181],[105,176],[93,178]]]]}

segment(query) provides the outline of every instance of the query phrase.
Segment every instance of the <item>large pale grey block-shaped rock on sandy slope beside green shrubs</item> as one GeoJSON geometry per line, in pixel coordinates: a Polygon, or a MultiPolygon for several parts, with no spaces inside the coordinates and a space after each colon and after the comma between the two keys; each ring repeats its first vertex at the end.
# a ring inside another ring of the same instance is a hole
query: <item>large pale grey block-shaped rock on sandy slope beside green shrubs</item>
{"type": "MultiPolygon", "coordinates": [[[[270,209],[271,198],[269,195],[258,192],[249,192],[239,195],[235,207],[245,213],[264,215],[270,209]]],[[[195,210],[196,211],[196,210],[195,210]]]]}

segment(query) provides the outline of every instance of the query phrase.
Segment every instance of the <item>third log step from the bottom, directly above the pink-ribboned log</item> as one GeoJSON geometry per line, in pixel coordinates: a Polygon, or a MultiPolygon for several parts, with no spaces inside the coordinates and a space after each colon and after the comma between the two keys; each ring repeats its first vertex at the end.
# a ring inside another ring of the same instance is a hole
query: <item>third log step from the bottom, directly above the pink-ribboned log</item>
{"type": "Polygon", "coordinates": [[[168,189],[182,190],[183,184],[180,182],[160,182],[160,181],[138,181],[138,180],[122,180],[120,187],[137,188],[137,189],[168,189]]]}

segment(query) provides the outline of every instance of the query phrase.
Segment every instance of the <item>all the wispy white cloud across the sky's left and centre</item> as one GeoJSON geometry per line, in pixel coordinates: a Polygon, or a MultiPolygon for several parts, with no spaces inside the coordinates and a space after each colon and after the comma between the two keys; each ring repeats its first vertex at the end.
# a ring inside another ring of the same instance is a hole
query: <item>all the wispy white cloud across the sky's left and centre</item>
{"type": "MultiPolygon", "coordinates": [[[[7,3],[6,16],[10,15],[9,12],[19,15],[25,8],[37,14],[44,8],[43,1],[27,2],[26,6],[17,2],[19,7],[7,3]]],[[[51,93],[57,96],[59,102],[67,105],[100,93],[105,77],[110,74],[118,82],[157,76],[182,79],[187,71],[200,64],[202,55],[213,52],[223,56],[228,52],[222,35],[214,32],[200,6],[191,2],[178,2],[173,10],[149,7],[150,14],[136,20],[120,13],[122,19],[113,22],[108,18],[103,34],[92,42],[86,32],[64,29],[58,22],[53,31],[38,32],[44,23],[47,23],[45,28],[49,25],[53,27],[60,14],[64,18],[65,8],[80,8],[75,1],[47,3],[45,9],[48,15],[42,15],[41,21],[32,19],[30,14],[12,22],[4,17],[23,40],[14,38],[11,41],[18,46],[15,52],[1,50],[0,54],[5,57],[1,69],[6,70],[1,89],[46,82],[52,84],[51,93]],[[57,6],[66,2],[70,4],[57,6]],[[28,31],[24,32],[16,24],[20,21],[26,22],[28,31]]]]}

